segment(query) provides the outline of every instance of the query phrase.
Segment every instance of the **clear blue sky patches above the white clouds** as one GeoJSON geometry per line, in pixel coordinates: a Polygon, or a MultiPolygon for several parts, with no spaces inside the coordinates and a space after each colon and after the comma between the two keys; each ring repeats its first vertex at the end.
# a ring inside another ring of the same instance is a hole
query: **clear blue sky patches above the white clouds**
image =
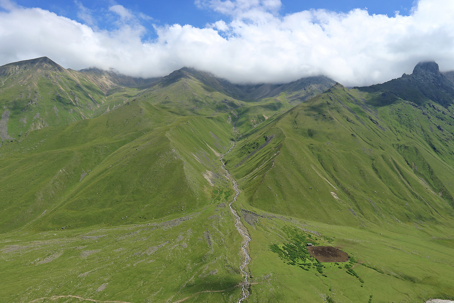
{"type": "MultiPolygon", "coordinates": [[[[153,25],[180,24],[204,27],[207,23],[214,23],[229,18],[213,10],[197,7],[191,0],[170,0],[170,1],[113,1],[113,0],[77,0],[77,1],[57,1],[57,0],[17,0],[18,5],[25,7],[39,7],[44,10],[52,11],[58,15],[86,23],[78,16],[80,4],[82,4],[96,20],[96,25],[100,29],[112,29],[113,16],[107,14],[109,6],[123,5],[126,9],[139,14],[147,15],[151,19],[142,20],[142,24],[148,29],[147,37],[156,37],[153,25]]],[[[400,15],[410,15],[410,10],[414,0],[282,0],[279,10],[281,15],[300,12],[310,9],[327,9],[335,12],[347,13],[350,10],[367,8],[370,15],[383,14],[394,16],[396,11],[400,15]]]]}

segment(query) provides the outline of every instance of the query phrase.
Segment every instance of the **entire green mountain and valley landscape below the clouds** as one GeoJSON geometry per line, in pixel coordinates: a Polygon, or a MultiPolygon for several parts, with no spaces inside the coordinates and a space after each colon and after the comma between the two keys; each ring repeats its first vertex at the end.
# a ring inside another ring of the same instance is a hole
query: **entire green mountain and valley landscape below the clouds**
{"type": "MultiPolygon", "coordinates": [[[[441,63],[440,63],[441,65],[441,63]]],[[[0,301],[454,300],[454,71],[0,67],[0,301]]]]}

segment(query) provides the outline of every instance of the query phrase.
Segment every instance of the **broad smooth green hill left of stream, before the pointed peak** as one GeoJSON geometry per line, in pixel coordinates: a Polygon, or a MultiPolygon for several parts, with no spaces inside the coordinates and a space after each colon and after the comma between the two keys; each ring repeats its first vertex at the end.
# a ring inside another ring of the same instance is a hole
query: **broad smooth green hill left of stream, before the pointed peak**
{"type": "Polygon", "coordinates": [[[224,116],[162,125],[162,115],[134,101],[6,145],[2,230],[35,219],[39,230],[137,223],[206,205],[232,125],[224,116]]]}

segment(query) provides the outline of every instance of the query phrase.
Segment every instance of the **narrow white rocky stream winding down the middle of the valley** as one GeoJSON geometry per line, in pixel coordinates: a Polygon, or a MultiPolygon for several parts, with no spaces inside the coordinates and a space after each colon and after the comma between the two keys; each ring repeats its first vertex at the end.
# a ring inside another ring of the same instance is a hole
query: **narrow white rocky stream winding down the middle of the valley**
{"type": "Polygon", "coordinates": [[[226,178],[229,179],[230,181],[232,181],[233,189],[235,189],[235,192],[236,192],[235,197],[233,198],[232,202],[230,202],[228,204],[228,206],[230,207],[230,211],[232,212],[232,214],[235,216],[235,219],[236,219],[235,227],[237,228],[238,233],[240,233],[242,235],[242,238],[244,241],[241,246],[241,249],[244,254],[244,262],[240,266],[240,270],[244,276],[244,283],[243,283],[243,287],[242,287],[242,296],[238,300],[238,303],[241,303],[244,299],[249,297],[249,291],[247,290],[247,288],[249,286],[249,281],[247,280],[248,274],[244,270],[244,268],[246,268],[247,264],[249,264],[249,262],[251,262],[251,257],[249,256],[249,253],[247,252],[247,244],[249,243],[249,241],[251,241],[251,237],[249,237],[249,234],[247,233],[246,228],[241,223],[240,216],[238,216],[237,212],[232,208],[232,203],[237,201],[237,197],[240,194],[240,191],[238,190],[237,181],[235,181],[235,179],[233,179],[233,177],[229,174],[228,170],[225,168],[224,162],[222,161],[222,159],[224,159],[224,156],[226,154],[230,153],[230,151],[232,150],[232,148],[234,146],[235,146],[235,142],[233,142],[232,147],[227,151],[227,153],[222,155],[220,160],[222,163],[221,164],[222,168],[226,171],[226,178]]]}

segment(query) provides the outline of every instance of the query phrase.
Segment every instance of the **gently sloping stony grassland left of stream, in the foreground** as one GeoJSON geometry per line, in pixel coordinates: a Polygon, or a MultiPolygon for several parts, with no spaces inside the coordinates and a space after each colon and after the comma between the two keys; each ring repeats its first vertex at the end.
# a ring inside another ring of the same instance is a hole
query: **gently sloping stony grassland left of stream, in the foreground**
{"type": "Polygon", "coordinates": [[[1,301],[237,302],[241,238],[232,220],[217,203],[134,225],[3,233],[1,301]]]}

